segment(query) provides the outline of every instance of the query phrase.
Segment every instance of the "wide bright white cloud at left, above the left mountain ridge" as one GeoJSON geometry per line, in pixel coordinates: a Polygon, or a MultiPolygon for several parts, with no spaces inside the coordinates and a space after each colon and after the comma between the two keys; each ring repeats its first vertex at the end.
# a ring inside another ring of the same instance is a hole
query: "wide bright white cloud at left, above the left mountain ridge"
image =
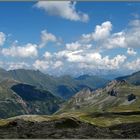
{"type": "Polygon", "coordinates": [[[4,56],[12,56],[12,57],[36,57],[38,56],[37,45],[28,43],[24,46],[12,46],[10,48],[3,48],[2,54],[4,56]]]}

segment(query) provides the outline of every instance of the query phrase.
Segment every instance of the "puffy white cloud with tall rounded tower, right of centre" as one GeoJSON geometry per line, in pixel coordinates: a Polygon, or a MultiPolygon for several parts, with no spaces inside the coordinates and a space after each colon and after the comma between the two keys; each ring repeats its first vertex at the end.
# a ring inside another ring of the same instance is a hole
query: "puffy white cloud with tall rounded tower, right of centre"
{"type": "Polygon", "coordinates": [[[111,31],[112,23],[110,21],[105,21],[101,25],[97,25],[94,32],[91,32],[89,34],[82,34],[80,41],[86,43],[93,41],[101,48],[107,49],[126,47],[126,33],[124,31],[120,31],[111,34],[111,31]]]}

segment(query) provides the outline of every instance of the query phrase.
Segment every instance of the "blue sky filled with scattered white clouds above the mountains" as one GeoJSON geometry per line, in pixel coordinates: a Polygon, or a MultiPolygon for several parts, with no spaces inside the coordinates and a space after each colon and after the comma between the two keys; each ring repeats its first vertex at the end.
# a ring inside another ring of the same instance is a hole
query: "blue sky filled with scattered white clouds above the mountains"
{"type": "Polygon", "coordinates": [[[140,70],[139,2],[0,2],[0,67],[51,75],[140,70]]]}

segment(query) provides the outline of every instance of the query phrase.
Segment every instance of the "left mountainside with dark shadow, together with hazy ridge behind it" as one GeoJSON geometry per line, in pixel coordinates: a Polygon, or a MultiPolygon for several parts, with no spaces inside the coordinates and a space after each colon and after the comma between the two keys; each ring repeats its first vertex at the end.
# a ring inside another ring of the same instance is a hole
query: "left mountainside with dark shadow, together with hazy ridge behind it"
{"type": "Polygon", "coordinates": [[[107,81],[89,75],[53,77],[38,70],[0,69],[0,117],[52,114],[82,88],[95,89],[107,81]]]}

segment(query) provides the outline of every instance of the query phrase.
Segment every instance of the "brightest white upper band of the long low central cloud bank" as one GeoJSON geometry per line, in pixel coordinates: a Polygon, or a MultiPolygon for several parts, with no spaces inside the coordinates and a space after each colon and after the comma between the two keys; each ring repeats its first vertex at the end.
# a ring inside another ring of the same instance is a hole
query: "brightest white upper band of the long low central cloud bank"
{"type": "MultiPolygon", "coordinates": [[[[64,51],[58,52],[58,55],[62,57],[65,56],[67,62],[75,63],[75,67],[77,64],[85,64],[89,67],[98,67],[100,69],[117,69],[120,65],[126,60],[126,56],[124,55],[117,55],[114,58],[109,58],[109,56],[103,57],[98,52],[84,52],[82,50],[79,51],[64,51]]],[[[88,67],[87,67],[88,68],[88,67]]]]}

